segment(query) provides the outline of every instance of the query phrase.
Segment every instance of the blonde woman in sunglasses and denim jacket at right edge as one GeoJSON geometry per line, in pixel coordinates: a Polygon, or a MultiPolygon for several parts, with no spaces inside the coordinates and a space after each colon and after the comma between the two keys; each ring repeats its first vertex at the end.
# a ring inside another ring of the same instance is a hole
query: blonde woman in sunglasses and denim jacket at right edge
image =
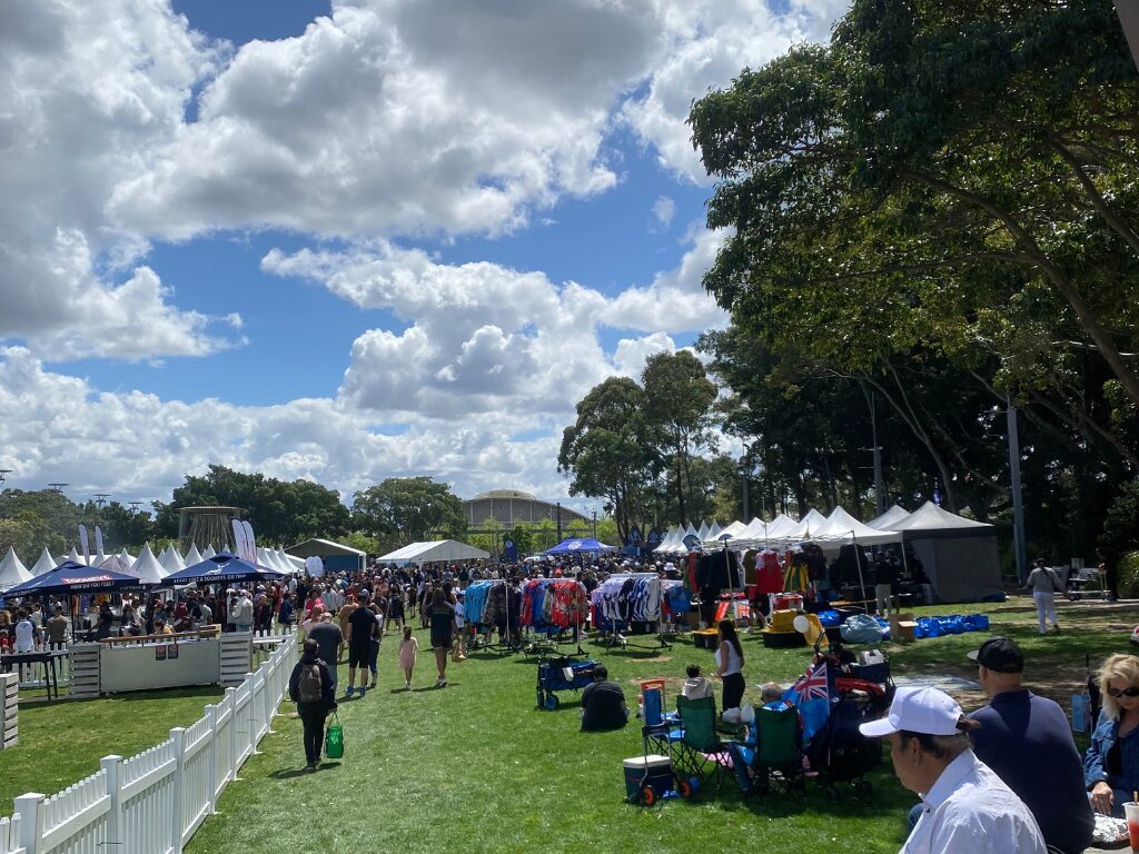
{"type": "Polygon", "coordinates": [[[1097,813],[1123,816],[1139,789],[1139,658],[1111,656],[1099,670],[1104,711],[1083,756],[1088,797],[1097,813]]]}

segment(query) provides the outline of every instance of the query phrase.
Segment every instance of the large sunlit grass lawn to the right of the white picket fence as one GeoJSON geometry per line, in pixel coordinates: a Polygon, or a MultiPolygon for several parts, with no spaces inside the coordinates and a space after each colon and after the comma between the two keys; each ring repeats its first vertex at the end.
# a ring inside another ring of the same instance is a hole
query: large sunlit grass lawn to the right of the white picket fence
{"type": "MultiPolygon", "coordinates": [[[[970,611],[977,610],[970,607],[970,611]]],[[[1063,634],[1040,637],[1031,600],[981,606],[993,633],[1022,642],[1030,660],[1027,680],[1041,693],[1066,705],[1084,679],[1084,652],[1093,659],[1126,650],[1136,621],[1131,606],[1064,603],[1063,634]]],[[[961,607],[921,613],[967,613],[961,607]]],[[[418,632],[427,646],[425,632],[418,632]]],[[[975,678],[964,655],[985,635],[923,640],[887,646],[894,674],[937,672],[975,678]]],[[[652,647],[649,639],[631,639],[652,647]]],[[[653,808],[623,803],[621,761],[641,753],[639,726],[582,733],[572,692],[556,712],[534,708],[536,664],[522,656],[475,652],[452,664],[451,684],[434,690],[431,652],[420,652],[413,690],[403,690],[395,665],[395,638],[380,651],[380,687],[364,699],[341,704],[346,753],[343,762],[320,771],[302,771],[300,722],[289,706],[274,721],[277,734],[244,767],[243,779],[227,789],[221,814],[206,821],[189,851],[243,852],[410,851],[410,852],[577,852],[584,849],[689,852],[773,846],[779,851],[833,851],[857,845],[860,852],[895,852],[903,838],[906,811],[915,796],[894,779],[888,758],[871,774],[872,795],[857,799],[845,787],[837,803],[809,785],[808,797],[770,796],[741,800],[729,781],[719,794],[700,793],[691,802],[671,800],[653,808]],[[857,841],[854,841],[857,840],[857,841]]],[[[802,673],[805,649],[769,650],[757,635],[745,635],[748,698],[755,685],[784,683],[802,673]]],[[[682,640],[671,649],[606,650],[587,642],[587,652],[604,662],[611,678],[636,704],[639,679],[670,680],[674,685],[690,662],[705,672],[712,654],[682,640]]],[[[342,685],[344,668],[341,668],[342,685]]],[[[962,695],[974,707],[980,695],[962,695]]],[[[0,758],[2,762],[2,758],[0,758]]],[[[0,770],[3,765],[0,764],[0,770]]]]}

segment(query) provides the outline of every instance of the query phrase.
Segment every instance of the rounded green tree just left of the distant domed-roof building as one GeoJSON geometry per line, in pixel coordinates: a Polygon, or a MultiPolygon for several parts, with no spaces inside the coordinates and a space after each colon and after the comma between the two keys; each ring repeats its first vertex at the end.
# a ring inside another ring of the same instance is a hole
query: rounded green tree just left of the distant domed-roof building
{"type": "Polygon", "coordinates": [[[426,476],[390,477],[357,492],[352,524],[376,537],[380,551],[421,540],[461,540],[467,532],[462,501],[426,476]]]}

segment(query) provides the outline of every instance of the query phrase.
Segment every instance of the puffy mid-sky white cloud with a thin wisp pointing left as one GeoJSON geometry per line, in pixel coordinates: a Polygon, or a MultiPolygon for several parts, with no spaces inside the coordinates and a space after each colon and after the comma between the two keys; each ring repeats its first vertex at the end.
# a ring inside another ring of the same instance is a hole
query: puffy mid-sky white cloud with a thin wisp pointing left
{"type": "MultiPolygon", "coordinates": [[[[370,411],[442,417],[511,411],[568,413],[646,351],[671,348],[667,332],[726,322],[700,277],[721,238],[697,231],[681,264],[615,297],[576,282],[498,264],[441,264],[426,253],[372,244],[349,252],[272,251],[262,268],[323,284],[366,309],[387,309],[402,332],[357,338],[341,394],[370,411]],[[608,356],[604,327],[645,331],[608,356]]],[[[639,368],[637,369],[639,371],[639,368]]]]}

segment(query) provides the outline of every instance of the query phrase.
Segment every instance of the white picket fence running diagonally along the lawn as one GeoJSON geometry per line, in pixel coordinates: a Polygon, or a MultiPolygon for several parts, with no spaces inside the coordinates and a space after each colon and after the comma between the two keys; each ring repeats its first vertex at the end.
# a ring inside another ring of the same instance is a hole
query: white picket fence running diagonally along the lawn
{"type": "Polygon", "coordinates": [[[290,635],[205,716],[137,756],[107,756],[99,771],[46,798],[16,798],[0,819],[0,854],[180,854],[252,756],[288,691],[290,635]]]}

